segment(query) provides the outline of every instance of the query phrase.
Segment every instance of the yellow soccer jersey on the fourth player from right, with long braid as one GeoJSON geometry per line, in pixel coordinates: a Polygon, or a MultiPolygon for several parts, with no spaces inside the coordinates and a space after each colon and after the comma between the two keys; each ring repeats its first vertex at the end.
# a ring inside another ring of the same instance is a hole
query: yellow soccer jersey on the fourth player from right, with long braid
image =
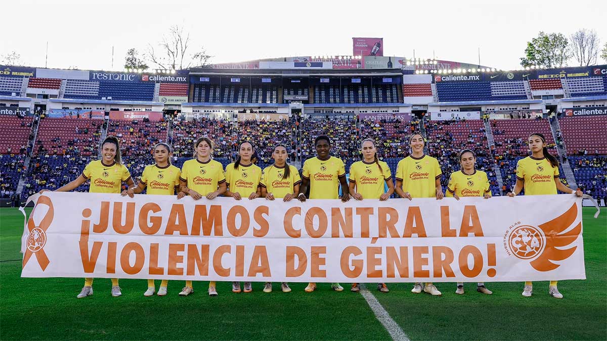
{"type": "Polygon", "coordinates": [[[392,179],[390,167],[379,161],[382,170],[375,162],[358,161],[350,166],[350,182],[356,183],[356,192],[364,199],[379,199],[384,194],[385,181],[392,179]]]}

